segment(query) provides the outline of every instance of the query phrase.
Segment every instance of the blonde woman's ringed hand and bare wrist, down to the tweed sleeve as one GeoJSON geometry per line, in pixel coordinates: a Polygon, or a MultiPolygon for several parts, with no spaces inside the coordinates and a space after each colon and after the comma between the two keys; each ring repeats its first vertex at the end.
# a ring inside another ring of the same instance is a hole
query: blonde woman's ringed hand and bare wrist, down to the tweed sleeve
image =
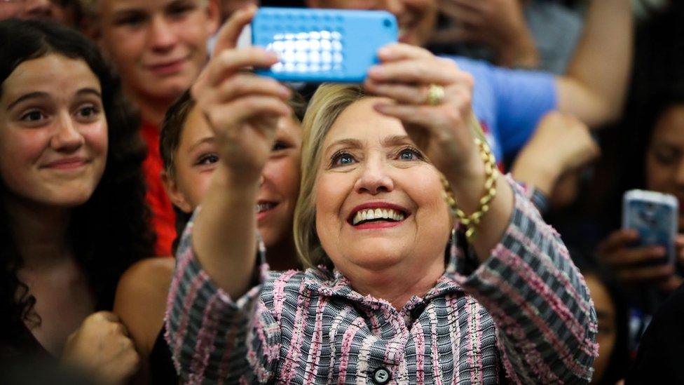
{"type": "MultiPolygon", "coordinates": [[[[479,125],[472,114],[470,74],[451,60],[406,44],[391,44],[378,51],[380,65],[369,69],[365,89],[378,100],[376,111],[402,121],[406,133],[444,174],[458,208],[466,215],[480,211],[488,177],[483,158],[474,143],[479,125]],[[439,92],[433,92],[433,91],[439,92]]],[[[498,190],[488,203],[473,244],[484,261],[508,224],[513,193],[499,175],[498,190]]]]}

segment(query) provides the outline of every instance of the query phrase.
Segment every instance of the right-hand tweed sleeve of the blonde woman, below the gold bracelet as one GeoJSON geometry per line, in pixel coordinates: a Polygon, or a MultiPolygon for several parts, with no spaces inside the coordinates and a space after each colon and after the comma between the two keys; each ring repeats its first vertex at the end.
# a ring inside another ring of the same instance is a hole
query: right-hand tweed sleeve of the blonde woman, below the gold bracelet
{"type": "MultiPolygon", "coordinates": [[[[509,178],[503,182],[514,186],[509,178]]],[[[454,278],[494,318],[513,382],[586,383],[598,353],[589,290],[559,234],[515,189],[499,244],[475,271],[454,278]]]]}

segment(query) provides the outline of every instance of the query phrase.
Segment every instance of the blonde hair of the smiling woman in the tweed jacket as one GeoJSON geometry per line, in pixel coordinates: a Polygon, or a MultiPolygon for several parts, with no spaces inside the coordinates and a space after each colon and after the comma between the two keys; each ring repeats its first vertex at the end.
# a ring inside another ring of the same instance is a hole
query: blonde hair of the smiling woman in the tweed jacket
{"type": "MultiPolygon", "coordinates": [[[[294,210],[294,244],[304,269],[324,264],[332,266],[316,232],[315,184],[326,135],[338,116],[351,104],[366,97],[363,88],[350,84],[323,84],[313,95],[302,122],[301,185],[294,210]]],[[[485,140],[482,128],[472,114],[474,137],[485,140]]]]}

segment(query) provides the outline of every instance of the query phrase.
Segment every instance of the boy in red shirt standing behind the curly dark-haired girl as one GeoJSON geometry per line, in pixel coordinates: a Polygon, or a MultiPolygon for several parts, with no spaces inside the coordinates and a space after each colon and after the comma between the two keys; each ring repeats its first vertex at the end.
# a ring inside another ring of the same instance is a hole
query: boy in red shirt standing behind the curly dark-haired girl
{"type": "Polygon", "coordinates": [[[89,34],[111,58],[126,96],[142,117],[149,153],[143,170],[157,234],[156,255],[170,255],[175,218],[160,173],[159,130],[170,105],[207,62],[216,32],[216,0],[82,0],[89,34]]]}

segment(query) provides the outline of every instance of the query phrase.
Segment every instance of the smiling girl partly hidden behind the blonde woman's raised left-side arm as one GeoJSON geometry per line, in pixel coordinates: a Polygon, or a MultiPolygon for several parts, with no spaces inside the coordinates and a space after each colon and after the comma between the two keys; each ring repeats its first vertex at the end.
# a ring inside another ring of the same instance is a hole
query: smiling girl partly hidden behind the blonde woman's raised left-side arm
{"type": "MultiPolygon", "coordinates": [[[[299,191],[299,122],[305,106],[299,98],[293,98],[290,105],[294,114],[278,122],[271,156],[261,172],[256,207],[259,234],[269,250],[268,263],[283,271],[299,267],[292,218],[299,191]]],[[[159,151],[164,160],[162,179],[174,203],[178,234],[182,234],[219,162],[214,132],[190,93],[184,93],[167,112],[159,151]]],[[[153,384],[177,382],[163,328],[174,264],[167,257],[138,262],[124,273],[116,291],[114,311],[128,327],[142,359],[139,377],[147,376],[153,384]]]]}

